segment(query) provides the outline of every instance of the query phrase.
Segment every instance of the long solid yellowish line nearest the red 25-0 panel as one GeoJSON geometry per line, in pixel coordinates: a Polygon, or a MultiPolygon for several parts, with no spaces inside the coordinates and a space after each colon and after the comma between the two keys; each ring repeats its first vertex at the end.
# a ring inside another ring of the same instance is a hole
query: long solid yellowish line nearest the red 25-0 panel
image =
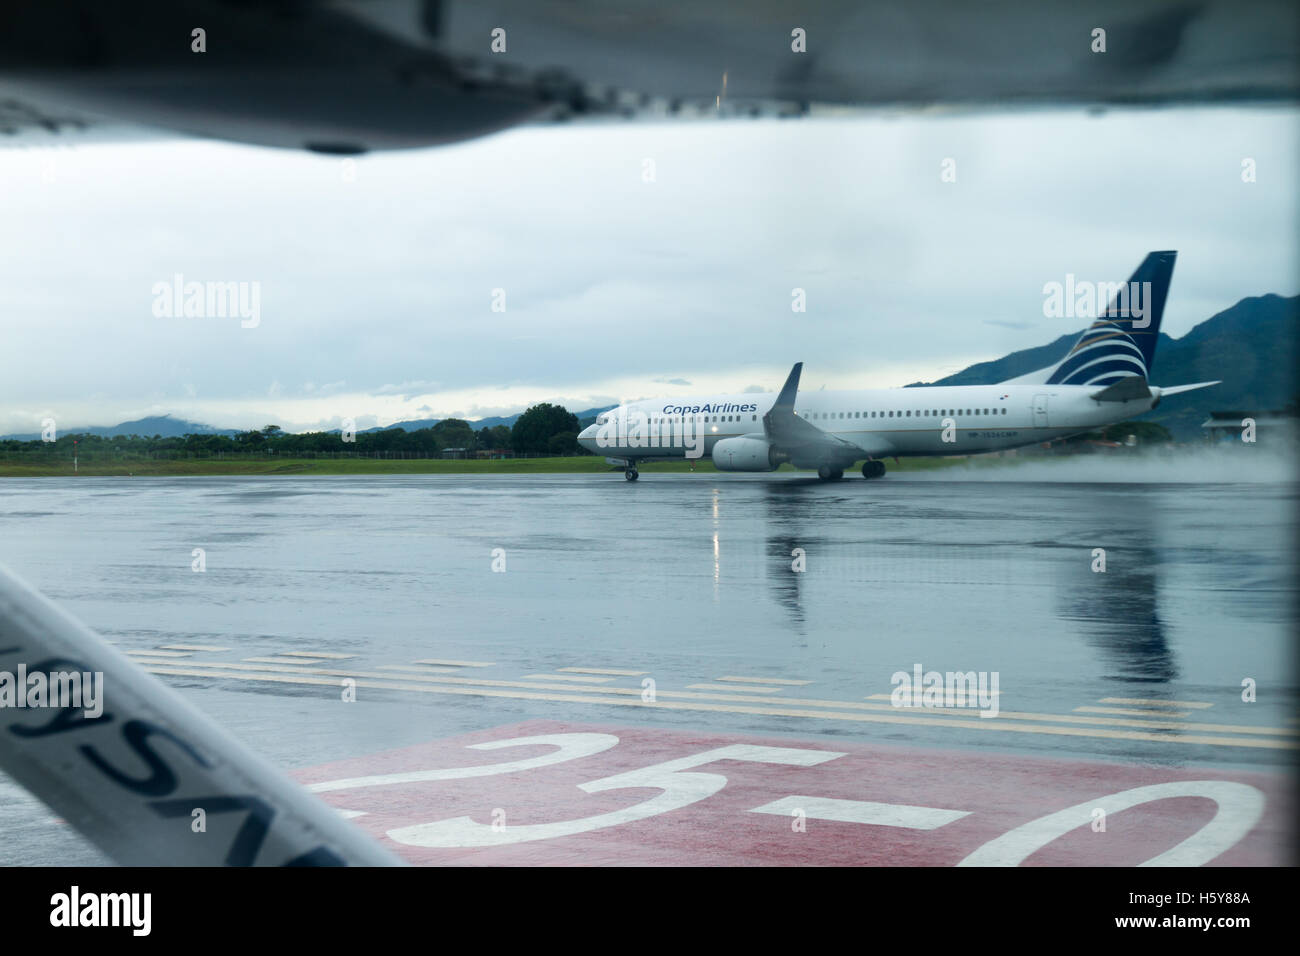
{"type": "MultiPolygon", "coordinates": [[[[337,688],[341,685],[341,680],[337,676],[326,676],[324,672],[304,672],[294,671],[282,674],[269,674],[261,672],[242,672],[237,670],[224,671],[220,665],[207,665],[195,666],[194,663],[182,666],[157,663],[151,667],[146,667],[151,674],[182,676],[182,678],[224,678],[230,680],[250,680],[250,682],[264,682],[264,683],[282,683],[282,684],[312,684],[317,687],[337,688]],[[317,674],[320,676],[317,676],[317,674]]],[[[1086,728],[1086,727],[1063,727],[1056,724],[1017,724],[1017,723],[1002,723],[1000,721],[988,721],[982,718],[953,718],[948,715],[904,715],[904,714],[879,714],[879,713],[852,713],[844,710],[805,710],[796,706],[772,706],[777,701],[764,700],[762,697],[757,698],[760,702],[767,704],[767,706],[745,706],[738,702],[708,702],[707,700],[664,700],[666,692],[659,692],[656,700],[644,701],[638,691],[632,691],[636,696],[620,697],[620,696],[598,696],[603,693],[614,693],[619,688],[592,688],[588,695],[575,693],[581,688],[566,687],[560,688],[568,691],[568,693],[542,693],[541,685],[536,685],[536,691],[520,691],[520,689],[504,689],[497,687],[486,687],[488,682],[467,682],[462,680],[458,685],[451,685],[445,682],[452,680],[451,678],[429,678],[424,683],[402,683],[393,680],[386,674],[376,675],[380,680],[369,680],[365,678],[358,679],[354,671],[338,671],[339,675],[348,676],[355,682],[356,687],[368,687],[380,691],[412,691],[415,693],[447,693],[471,697],[508,697],[515,700],[541,700],[541,701],[555,701],[560,704],[603,704],[608,706],[624,706],[624,708],[650,708],[660,710],[701,710],[710,713],[731,713],[731,714],[758,714],[762,717],[811,717],[827,721],[853,721],[862,723],[898,723],[898,724],[911,724],[911,726],[944,726],[944,727],[959,727],[962,730],[983,730],[983,731],[1008,731],[1015,734],[1048,734],[1057,736],[1080,736],[1080,737],[1108,737],[1113,740],[1148,740],[1154,743],[1180,743],[1180,744],[1199,744],[1210,747],[1256,747],[1268,749],[1295,749],[1295,744],[1288,740],[1257,740],[1252,737],[1223,737],[1223,736],[1209,736],[1209,735],[1169,735],[1169,734],[1150,734],[1140,731],[1126,731],[1126,730],[1104,730],[1104,728],[1086,728]],[[467,687],[464,684],[477,684],[467,687]]],[[[491,682],[494,684],[508,683],[508,682],[491,682]]],[[[524,684],[521,687],[533,687],[524,684]]],[[[684,696],[676,693],[673,696],[684,696]]],[[[696,697],[703,697],[703,695],[694,695],[696,697]]],[[[740,698],[733,698],[740,700],[740,698]]],[[[807,701],[780,701],[781,704],[801,704],[807,705],[807,701]]],[[[828,702],[833,704],[833,702],[828,702]]],[[[871,705],[859,705],[871,706],[871,705]]],[[[896,710],[894,708],[888,708],[888,710],[896,710]]],[[[1088,719],[1088,718],[1076,718],[1088,719]]],[[[1091,718],[1095,721],[1104,721],[1106,718],[1091,718]]]]}

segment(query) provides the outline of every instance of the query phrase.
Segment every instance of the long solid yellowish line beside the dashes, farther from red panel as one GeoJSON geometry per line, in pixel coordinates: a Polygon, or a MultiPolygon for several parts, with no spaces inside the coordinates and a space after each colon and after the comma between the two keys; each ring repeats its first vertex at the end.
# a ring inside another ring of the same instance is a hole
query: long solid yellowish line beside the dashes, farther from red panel
{"type": "MultiPolygon", "coordinates": [[[[289,661],[281,663],[291,663],[289,661]]],[[[212,669],[228,669],[228,670],[243,670],[243,671],[276,671],[280,670],[286,674],[322,674],[333,678],[377,678],[380,680],[394,680],[391,674],[378,674],[374,671],[364,670],[329,670],[324,667],[304,669],[302,666],[294,665],[291,667],[274,667],[263,666],[255,667],[247,663],[235,662],[221,662],[221,661],[191,661],[187,666],[191,667],[212,667],[212,669]]],[[[542,691],[589,691],[590,693],[618,693],[640,697],[641,691],[636,688],[624,687],[572,687],[568,684],[542,684],[542,683],[523,683],[519,680],[491,680],[488,678],[438,678],[438,676],[424,676],[424,675],[410,675],[411,680],[419,680],[432,684],[465,684],[472,687],[502,687],[502,688],[528,688],[528,689],[542,689],[542,691]]],[[[771,702],[771,697],[759,696],[745,696],[744,688],[737,688],[732,695],[718,695],[718,693],[692,693],[690,691],[656,691],[659,697],[681,697],[684,700],[707,700],[707,701],[734,701],[741,704],[767,704],[771,702]]],[[[888,697],[888,695],[876,695],[888,697]]],[[[786,697],[780,701],[781,704],[800,705],[800,706],[812,706],[812,708],[849,708],[855,710],[883,710],[887,713],[898,713],[900,710],[909,710],[922,718],[931,718],[935,715],[944,714],[957,714],[967,715],[971,713],[971,708],[894,708],[890,704],[859,704],[857,701],[833,701],[833,700],[810,700],[802,697],[786,697]]],[[[1118,717],[1084,717],[1082,714],[1036,714],[1036,713],[1022,713],[1015,710],[1002,710],[996,718],[979,718],[983,723],[993,723],[1001,719],[1014,719],[1014,721],[1048,721],[1056,723],[1078,723],[1089,726],[1110,726],[1110,727],[1135,727],[1141,730],[1161,730],[1171,732],[1182,732],[1188,730],[1195,731],[1209,731],[1216,734],[1269,734],[1269,735],[1283,735],[1283,736],[1297,736],[1300,731],[1290,730],[1286,727],[1261,727],[1253,724],[1226,724],[1226,723],[1186,723],[1179,721],[1157,721],[1156,718],[1145,721],[1126,721],[1118,717]]],[[[1161,737],[1165,739],[1165,737],[1161,737]]]]}

